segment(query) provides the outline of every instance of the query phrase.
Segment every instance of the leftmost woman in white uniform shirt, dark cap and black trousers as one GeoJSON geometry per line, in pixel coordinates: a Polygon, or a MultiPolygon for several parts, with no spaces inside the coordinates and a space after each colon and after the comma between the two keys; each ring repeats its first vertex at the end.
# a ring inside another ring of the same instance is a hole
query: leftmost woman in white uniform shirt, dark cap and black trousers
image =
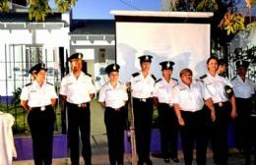
{"type": "Polygon", "coordinates": [[[51,83],[46,83],[43,63],[32,67],[32,83],[26,84],[21,93],[21,105],[29,112],[28,122],[32,132],[32,153],[35,165],[52,163],[54,131],[54,105],[57,94],[51,83]]]}

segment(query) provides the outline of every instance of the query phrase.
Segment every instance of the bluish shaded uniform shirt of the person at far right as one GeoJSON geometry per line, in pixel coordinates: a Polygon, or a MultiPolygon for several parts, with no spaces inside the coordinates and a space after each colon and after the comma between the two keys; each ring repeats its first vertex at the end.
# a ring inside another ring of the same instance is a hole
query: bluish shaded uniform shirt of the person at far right
{"type": "Polygon", "coordinates": [[[238,98],[250,98],[256,90],[255,84],[247,78],[245,78],[243,82],[241,78],[237,76],[231,83],[233,85],[234,95],[238,98]]]}

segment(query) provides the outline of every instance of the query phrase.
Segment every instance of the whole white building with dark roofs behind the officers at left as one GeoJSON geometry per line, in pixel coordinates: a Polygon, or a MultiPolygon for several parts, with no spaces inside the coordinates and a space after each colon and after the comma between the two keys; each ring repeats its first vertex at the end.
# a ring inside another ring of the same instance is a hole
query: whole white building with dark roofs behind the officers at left
{"type": "Polygon", "coordinates": [[[29,70],[38,62],[48,68],[47,82],[58,86],[61,63],[67,71],[67,57],[75,52],[85,55],[85,71],[96,88],[105,82],[104,67],[115,62],[113,20],[72,20],[70,13],[53,13],[35,23],[29,21],[27,7],[11,5],[9,13],[0,15],[1,102],[9,102],[17,88],[32,82],[29,70]]]}

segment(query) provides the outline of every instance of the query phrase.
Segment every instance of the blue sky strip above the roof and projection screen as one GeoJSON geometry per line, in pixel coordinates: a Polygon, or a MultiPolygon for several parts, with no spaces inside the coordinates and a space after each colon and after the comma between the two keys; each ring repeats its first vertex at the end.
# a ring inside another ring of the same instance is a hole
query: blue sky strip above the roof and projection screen
{"type": "Polygon", "coordinates": [[[111,10],[160,10],[160,0],[78,0],[75,19],[113,19],[111,10]]]}

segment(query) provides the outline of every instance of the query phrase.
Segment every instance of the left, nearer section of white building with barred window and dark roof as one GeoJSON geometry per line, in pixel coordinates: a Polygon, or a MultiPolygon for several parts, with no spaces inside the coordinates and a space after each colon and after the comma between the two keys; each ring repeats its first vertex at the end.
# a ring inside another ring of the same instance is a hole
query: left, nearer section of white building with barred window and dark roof
{"type": "Polygon", "coordinates": [[[44,23],[28,21],[20,9],[2,14],[0,19],[0,95],[31,82],[32,65],[46,63],[49,82],[59,79],[58,48],[69,49],[69,14],[53,13],[44,23]],[[5,87],[4,87],[5,86],[5,87]]]}

